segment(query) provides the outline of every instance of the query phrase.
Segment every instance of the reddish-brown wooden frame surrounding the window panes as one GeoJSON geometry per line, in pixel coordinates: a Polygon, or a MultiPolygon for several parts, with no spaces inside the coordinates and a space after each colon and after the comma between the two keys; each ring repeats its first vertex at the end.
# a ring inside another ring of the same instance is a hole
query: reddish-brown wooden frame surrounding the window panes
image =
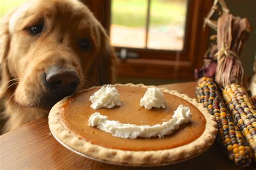
{"type": "MultiPolygon", "coordinates": [[[[111,0],[86,1],[84,3],[110,33],[111,0]]],[[[115,47],[117,52],[138,53],[139,58],[120,59],[118,76],[138,76],[165,79],[194,80],[194,68],[203,63],[201,57],[208,47],[209,28],[203,30],[204,17],[211,9],[213,0],[189,0],[186,14],[186,30],[182,51],[115,47]]]]}

